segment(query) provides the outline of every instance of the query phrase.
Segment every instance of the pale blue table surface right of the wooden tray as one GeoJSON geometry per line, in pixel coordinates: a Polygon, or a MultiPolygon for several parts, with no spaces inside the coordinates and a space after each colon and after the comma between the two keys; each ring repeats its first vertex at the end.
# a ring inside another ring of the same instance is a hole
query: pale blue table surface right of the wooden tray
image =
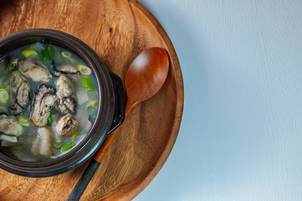
{"type": "Polygon", "coordinates": [[[174,44],[185,107],[134,200],[302,200],[302,1],[140,2],[174,44]]]}

